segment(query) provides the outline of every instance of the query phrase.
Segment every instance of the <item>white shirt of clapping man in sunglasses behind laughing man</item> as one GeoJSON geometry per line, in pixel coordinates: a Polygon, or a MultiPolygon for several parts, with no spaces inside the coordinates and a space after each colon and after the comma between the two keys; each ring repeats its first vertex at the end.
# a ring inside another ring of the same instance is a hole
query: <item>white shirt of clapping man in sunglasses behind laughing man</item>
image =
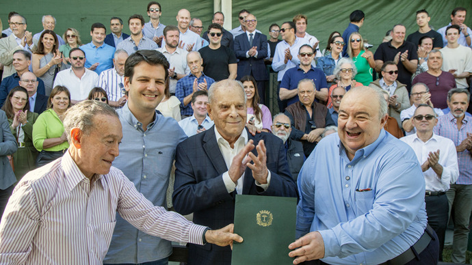
{"type": "Polygon", "coordinates": [[[438,176],[431,167],[424,171],[426,191],[449,190],[449,184],[456,182],[459,176],[456,145],[454,145],[454,142],[451,139],[434,133],[426,142],[421,141],[416,133],[402,137],[400,140],[410,145],[412,150],[415,151],[420,165],[423,165],[428,160],[430,152],[439,150],[438,163],[443,166],[443,175],[438,176]]]}

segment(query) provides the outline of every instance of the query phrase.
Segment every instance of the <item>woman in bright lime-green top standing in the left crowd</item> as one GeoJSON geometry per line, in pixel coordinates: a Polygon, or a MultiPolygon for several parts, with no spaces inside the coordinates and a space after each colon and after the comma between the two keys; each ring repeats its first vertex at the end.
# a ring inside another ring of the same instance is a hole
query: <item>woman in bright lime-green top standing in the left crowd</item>
{"type": "Polygon", "coordinates": [[[34,147],[40,151],[38,167],[60,158],[69,148],[62,121],[70,106],[69,90],[62,85],[54,87],[48,99],[48,109],[39,115],[33,126],[34,147]]]}

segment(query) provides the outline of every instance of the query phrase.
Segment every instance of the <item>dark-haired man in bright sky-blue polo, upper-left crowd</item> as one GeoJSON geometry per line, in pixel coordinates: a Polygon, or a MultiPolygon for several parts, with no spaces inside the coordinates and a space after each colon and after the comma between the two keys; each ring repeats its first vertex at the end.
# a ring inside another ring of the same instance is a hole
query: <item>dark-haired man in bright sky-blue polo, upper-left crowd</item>
{"type": "Polygon", "coordinates": [[[86,54],[86,65],[88,70],[97,74],[113,67],[113,56],[115,48],[104,43],[107,29],[102,23],[94,23],[90,29],[92,42],[85,44],[80,49],[86,54]]]}

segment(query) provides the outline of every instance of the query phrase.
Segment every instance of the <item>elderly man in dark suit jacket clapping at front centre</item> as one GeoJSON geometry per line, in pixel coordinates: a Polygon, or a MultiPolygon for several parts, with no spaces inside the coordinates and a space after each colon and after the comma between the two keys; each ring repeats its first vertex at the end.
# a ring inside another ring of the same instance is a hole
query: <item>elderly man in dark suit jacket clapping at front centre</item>
{"type": "MultiPolygon", "coordinates": [[[[215,126],[177,146],[175,210],[193,212],[195,223],[213,228],[233,223],[236,194],[296,197],[283,142],[269,133],[253,137],[245,128],[243,85],[214,83],[208,101],[215,126]]],[[[188,264],[231,264],[231,249],[190,244],[188,264]]]]}

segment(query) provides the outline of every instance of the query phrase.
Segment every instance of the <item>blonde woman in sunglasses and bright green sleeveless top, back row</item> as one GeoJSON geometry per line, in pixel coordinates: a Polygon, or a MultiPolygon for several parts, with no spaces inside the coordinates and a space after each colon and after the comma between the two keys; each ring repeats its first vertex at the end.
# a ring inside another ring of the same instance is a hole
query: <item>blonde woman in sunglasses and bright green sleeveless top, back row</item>
{"type": "Polygon", "coordinates": [[[368,86],[373,81],[372,73],[376,68],[376,61],[373,59],[373,53],[365,49],[364,40],[358,32],[352,33],[348,40],[348,55],[357,68],[354,80],[368,86]]]}

